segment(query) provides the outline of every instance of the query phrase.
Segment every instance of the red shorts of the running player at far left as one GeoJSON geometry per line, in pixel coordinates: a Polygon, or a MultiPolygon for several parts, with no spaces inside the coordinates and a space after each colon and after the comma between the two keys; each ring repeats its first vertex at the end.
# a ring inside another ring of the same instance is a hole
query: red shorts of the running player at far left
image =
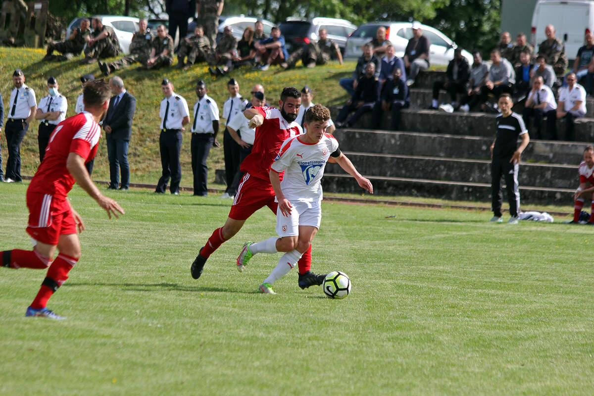
{"type": "Polygon", "coordinates": [[[29,226],[27,233],[39,242],[58,245],[60,235],[76,233],[76,222],[65,199],[27,192],[29,226]]]}

